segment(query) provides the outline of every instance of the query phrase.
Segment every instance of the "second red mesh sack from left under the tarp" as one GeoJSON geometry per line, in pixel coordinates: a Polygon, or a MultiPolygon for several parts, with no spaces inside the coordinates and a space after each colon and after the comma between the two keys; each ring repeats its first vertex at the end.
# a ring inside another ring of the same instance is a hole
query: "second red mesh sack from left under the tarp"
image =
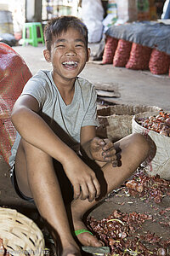
{"type": "Polygon", "coordinates": [[[116,52],[113,58],[114,67],[125,67],[130,56],[132,43],[124,39],[119,39],[116,52]]]}

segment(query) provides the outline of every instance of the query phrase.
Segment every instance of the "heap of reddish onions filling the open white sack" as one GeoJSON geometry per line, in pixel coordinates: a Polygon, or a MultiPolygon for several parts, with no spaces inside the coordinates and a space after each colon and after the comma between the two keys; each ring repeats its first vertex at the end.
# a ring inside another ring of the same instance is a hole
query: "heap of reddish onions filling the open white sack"
{"type": "Polygon", "coordinates": [[[156,116],[140,118],[137,122],[146,129],[170,137],[170,113],[160,112],[156,116]]]}

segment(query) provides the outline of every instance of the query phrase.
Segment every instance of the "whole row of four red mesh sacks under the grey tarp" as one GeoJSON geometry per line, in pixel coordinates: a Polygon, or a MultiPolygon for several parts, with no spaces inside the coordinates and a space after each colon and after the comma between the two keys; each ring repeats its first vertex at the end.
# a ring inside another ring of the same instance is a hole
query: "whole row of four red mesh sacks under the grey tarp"
{"type": "Polygon", "coordinates": [[[157,49],[107,36],[103,64],[126,67],[133,70],[148,70],[153,74],[170,76],[170,55],[157,49]]]}

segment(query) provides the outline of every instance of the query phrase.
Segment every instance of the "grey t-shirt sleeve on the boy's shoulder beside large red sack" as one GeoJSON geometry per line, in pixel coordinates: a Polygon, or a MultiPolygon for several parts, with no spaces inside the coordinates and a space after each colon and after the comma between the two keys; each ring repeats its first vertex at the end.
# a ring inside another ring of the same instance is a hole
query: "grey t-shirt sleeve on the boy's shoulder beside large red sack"
{"type": "Polygon", "coordinates": [[[44,82],[41,79],[31,78],[25,85],[21,95],[31,95],[36,98],[39,103],[39,107],[41,108],[43,103],[45,102],[45,87],[44,82]]]}

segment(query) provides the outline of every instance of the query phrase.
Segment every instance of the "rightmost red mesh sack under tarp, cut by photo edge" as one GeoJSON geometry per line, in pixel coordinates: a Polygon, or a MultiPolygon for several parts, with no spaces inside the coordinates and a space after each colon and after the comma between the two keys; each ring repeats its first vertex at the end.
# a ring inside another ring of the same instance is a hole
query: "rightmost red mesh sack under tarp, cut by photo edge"
{"type": "Polygon", "coordinates": [[[157,49],[152,49],[149,61],[150,72],[154,74],[168,73],[170,55],[157,49]]]}

